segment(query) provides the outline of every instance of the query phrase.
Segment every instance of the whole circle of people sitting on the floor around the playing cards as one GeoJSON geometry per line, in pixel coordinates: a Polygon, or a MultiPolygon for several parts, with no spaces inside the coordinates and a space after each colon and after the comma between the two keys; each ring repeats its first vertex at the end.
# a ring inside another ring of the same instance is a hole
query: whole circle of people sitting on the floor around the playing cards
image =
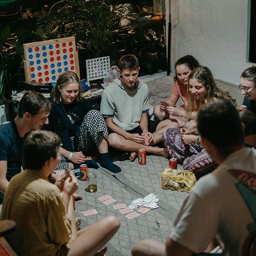
{"type": "Polygon", "coordinates": [[[142,241],[133,254],[193,255],[219,234],[225,255],[250,255],[255,230],[247,225],[255,224],[250,209],[255,191],[248,196],[246,189],[255,188],[240,177],[256,177],[256,152],[249,148],[256,146],[256,67],[241,75],[247,109],[238,113],[236,101],[217,88],[207,67],[191,55],[181,57],[170,97],[155,106],[157,122],[148,119],[149,93],[138,81],[137,57],[122,56],[118,67],[121,78],[104,89],[100,112],[82,98],[77,75],[68,71],[59,76],[50,101],[26,92],[15,119],[0,126],[2,219],[17,223],[7,241],[18,255],[104,255],[102,247],[117,232],[118,218],[106,217],[77,232],[76,178],[54,172],[82,163],[121,172],[109,147],[130,152],[131,162],[143,148],[177,158],[197,179],[216,170],[200,178],[184,201],[166,246],[142,241]],[[183,106],[176,106],[179,98],[183,106]],[[55,184],[48,183],[49,175],[55,184]]]}

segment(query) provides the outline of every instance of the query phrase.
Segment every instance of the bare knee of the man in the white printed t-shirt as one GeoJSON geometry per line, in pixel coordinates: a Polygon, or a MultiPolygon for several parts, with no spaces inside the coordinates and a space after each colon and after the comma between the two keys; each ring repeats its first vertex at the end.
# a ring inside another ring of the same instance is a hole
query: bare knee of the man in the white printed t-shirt
{"type": "Polygon", "coordinates": [[[166,247],[164,243],[154,240],[142,240],[136,243],[131,250],[133,256],[164,256],[166,247]]]}

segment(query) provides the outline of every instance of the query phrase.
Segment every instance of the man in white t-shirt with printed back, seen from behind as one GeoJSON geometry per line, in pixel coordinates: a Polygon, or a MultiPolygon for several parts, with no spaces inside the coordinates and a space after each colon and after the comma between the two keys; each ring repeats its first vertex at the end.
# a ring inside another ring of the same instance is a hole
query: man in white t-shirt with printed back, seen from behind
{"type": "Polygon", "coordinates": [[[226,100],[210,102],[199,112],[197,128],[219,166],[192,188],[166,245],[141,241],[133,255],[192,256],[215,237],[224,244],[226,256],[255,255],[256,151],[243,143],[236,107],[226,100]]]}

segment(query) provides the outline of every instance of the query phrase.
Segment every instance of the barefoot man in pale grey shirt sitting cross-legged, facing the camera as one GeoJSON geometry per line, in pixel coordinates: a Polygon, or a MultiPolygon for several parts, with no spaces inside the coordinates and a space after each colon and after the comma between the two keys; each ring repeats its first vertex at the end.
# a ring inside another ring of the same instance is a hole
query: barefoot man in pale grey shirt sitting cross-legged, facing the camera
{"type": "Polygon", "coordinates": [[[124,55],[118,62],[120,79],[104,89],[101,110],[109,129],[111,147],[131,152],[130,161],[137,157],[139,149],[149,154],[168,157],[166,148],[154,147],[163,140],[166,127],[148,121],[148,87],[138,81],[139,61],[134,55],[124,55]]]}

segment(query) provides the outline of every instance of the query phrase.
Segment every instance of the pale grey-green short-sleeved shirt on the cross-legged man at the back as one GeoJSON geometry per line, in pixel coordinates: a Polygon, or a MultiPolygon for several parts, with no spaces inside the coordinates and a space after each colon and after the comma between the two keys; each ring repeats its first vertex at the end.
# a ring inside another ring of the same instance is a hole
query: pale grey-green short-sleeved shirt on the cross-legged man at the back
{"type": "Polygon", "coordinates": [[[125,131],[139,126],[141,115],[147,110],[148,88],[144,82],[137,81],[130,90],[115,79],[102,93],[101,114],[113,117],[113,123],[125,131]]]}

